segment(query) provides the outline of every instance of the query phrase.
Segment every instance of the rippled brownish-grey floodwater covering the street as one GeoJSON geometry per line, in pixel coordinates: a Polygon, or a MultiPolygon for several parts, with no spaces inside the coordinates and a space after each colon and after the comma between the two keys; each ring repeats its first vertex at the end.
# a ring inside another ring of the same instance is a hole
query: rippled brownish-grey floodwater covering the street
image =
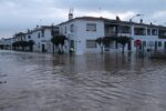
{"type": "Polygon", "coordinates": [[[166,61],[0,50],[0,111],[166,111],[166,61]]]}

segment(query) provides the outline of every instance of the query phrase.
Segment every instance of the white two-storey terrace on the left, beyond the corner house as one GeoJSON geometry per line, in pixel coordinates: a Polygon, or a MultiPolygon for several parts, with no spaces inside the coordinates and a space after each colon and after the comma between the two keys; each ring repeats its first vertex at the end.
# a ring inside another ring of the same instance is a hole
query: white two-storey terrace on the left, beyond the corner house
{"type": "Polygon", "coordinates": [[[59,34],[59,27],[54,26],[37,26],[33,30],[28,30],[25,33],[19,32],[14,34],[15,41],[33,41],[32,50],[35,52],[52,52],[51,38],[52,33],[59,34]]]}

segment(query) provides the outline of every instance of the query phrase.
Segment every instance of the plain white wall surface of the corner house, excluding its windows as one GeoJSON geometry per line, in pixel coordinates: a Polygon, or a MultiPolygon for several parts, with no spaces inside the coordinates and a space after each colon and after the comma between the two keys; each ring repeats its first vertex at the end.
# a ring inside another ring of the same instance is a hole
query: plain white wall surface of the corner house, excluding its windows
{"type": "Polygon", "coordinates": [[[86,48],[86,40],[96,40],[104,37],[104,22],[100,20],[74,20],[61,26],[61,33],[66,36],[70,40],[74,40],[74,50],[76,54],[86,52],[98,52],[97,48],[86,48]],[[96,23],[96,31],[86,31],[86,23],[96,23]],[[70,32],[70,26],[74,24],[74,32],[70,32]],[[65,33],[66,27],[66,33],[65,33]]]}

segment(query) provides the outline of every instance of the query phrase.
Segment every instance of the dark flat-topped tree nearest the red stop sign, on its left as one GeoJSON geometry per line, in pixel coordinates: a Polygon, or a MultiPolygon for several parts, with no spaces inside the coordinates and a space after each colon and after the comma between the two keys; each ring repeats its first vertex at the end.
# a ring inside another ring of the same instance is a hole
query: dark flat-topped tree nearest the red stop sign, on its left
{"type": "Polygon", "coordinates": [[[116,41],[117,43],[122,44],[122,53],[124,53],[124,48],[126,46],[126,43],[128,43],[132,40],[132,38],[128,37],[117,37],[116,41]]]}

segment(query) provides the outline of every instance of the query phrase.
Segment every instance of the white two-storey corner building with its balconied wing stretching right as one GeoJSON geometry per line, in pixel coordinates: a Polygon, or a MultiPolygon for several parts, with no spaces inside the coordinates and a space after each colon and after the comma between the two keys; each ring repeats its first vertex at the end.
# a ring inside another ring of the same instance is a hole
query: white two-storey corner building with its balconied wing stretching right
{"type": "MultiPolygon", "coordinates": [[[[60,34],[68,37],[68,51],[73,48],[76,54],[89,52],[100,52],[96,39],[102,37],[132,38],[125,46],[125,51],[139,50],[165,50],[166,49],[166,27],[145,24],[132,21],[111,20],[106,18],[81,17],[62,22],[60,34]],[[141,41],[136,46],[136,41],[141,41]]],[[[120,51],[122,44],[112,42],[105,46],[105,51],[120,51]]]]}

